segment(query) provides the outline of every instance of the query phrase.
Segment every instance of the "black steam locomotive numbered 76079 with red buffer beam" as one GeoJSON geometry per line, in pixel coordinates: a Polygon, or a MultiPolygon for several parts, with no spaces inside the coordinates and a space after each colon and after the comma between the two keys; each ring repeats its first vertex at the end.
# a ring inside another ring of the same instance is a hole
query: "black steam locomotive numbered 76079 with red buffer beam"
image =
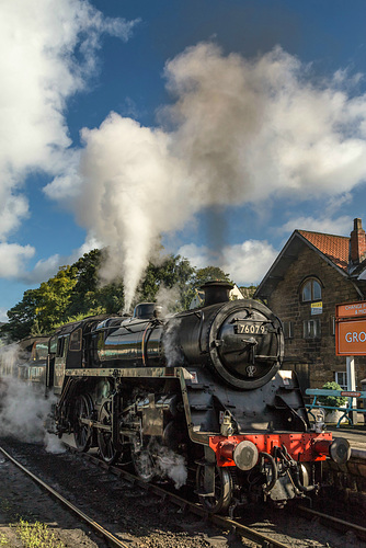
{"type": "Polygon", "coordinates": [[[131,460],[151,481],[164,450],[184,460],[213,513],[317,492],[321,464],[350,447],[312,430],[294,372],[281,369],[281,321],[263,304],[229,300],[231,285],[203,286],[205,305],[163,317],[140,304],[131,317],[92,317],[49,339],[46,387],[58,397],[49,427],[131,460]]]}

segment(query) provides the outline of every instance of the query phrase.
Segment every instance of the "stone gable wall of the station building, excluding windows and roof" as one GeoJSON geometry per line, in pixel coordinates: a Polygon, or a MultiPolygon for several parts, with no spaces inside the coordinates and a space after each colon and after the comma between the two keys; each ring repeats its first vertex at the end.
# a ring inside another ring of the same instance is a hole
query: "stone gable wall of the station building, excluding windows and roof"
{"type": "MultiPolygon", "coordinates": [[[[268,307],[283,322],[293,323],[293,339],[285,340],[285,367],[296,370],[301,388],[321,388],[334,380],[335,372],[345,372],[345,357],[335,356],[333,318],[335,305],[359,300],[350,279],[328,264],[317,252],[305,248],[288,267],[285,278],[278,283],[268,298],[268,307]],[[301,302],[301,284],[314,276],[322,285],[322,313],[311,315],[311,304],[301,302]],[[304,321],[320,320],[321,336],[304,338],[304,321]]],[[[285,324],[286,327],[286,324],[285,324]]],[[[355,357],[356,384],[366,378],[366,357],[355,357]]]]}

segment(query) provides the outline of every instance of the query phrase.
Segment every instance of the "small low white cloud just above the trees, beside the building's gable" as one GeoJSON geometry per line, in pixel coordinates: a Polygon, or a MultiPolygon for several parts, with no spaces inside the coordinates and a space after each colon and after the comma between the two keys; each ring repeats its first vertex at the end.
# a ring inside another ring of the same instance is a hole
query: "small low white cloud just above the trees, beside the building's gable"
{"type": "Polygon", "coordinates": [[[259,283],[277,256],[277,251],[268,242],[260,240],[225,246],[219,256],[206,246],[194,243],[182,246],[178,253],[197,269],[219,266],[237,285],[259,283]]]}

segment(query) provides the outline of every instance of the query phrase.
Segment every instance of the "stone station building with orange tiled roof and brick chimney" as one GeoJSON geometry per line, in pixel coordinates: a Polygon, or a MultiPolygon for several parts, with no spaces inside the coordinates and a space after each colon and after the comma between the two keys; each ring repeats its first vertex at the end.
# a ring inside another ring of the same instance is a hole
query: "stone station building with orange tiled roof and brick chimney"
{"type": "MultiPolygon", "coordinates": [[[[302,390],[336,380],[346,388],[346,359],[335,356],[335,305],[366,300],[366,237],[354,220],[351,237],[295,230],[254,298],[283,321],[285,364],[302,390]]],[[[366,357],[355,357],[356,385],[366,357]]]]}

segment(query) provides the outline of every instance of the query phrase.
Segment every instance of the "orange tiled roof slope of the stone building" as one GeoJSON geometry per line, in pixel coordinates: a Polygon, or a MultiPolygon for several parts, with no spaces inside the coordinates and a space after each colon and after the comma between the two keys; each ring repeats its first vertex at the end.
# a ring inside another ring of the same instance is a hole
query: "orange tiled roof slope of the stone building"
{"type": "Polygon", "coordinates": [[[346,236],[323,235],[298,230],[312,246],[327,255],[334,264],[347,270],[350,254],[350,238],[346,236]]]}

